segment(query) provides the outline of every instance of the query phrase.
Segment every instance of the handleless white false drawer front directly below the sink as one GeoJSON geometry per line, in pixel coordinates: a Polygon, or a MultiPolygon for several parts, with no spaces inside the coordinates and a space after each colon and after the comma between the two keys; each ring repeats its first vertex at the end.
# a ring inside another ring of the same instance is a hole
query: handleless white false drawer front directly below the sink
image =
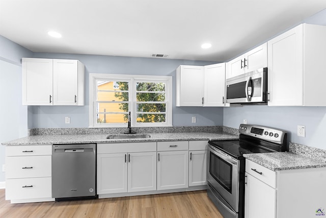
{"type": "Polygon", "coordinates": [[[97,154],[156,152],[156,142],[97,144],[97,154]]]}

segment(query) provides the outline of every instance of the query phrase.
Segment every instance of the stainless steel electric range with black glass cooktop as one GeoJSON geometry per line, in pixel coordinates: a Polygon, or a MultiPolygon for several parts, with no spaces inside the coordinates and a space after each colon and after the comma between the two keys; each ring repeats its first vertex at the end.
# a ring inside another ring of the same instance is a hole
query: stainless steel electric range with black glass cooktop
{"type": "Polygon", "coordinates": [[[225,217],[244,217],[243,154],[288,151],[287,133],[241,124],[239,140],[208,141],[207,195],[225,217]]]}

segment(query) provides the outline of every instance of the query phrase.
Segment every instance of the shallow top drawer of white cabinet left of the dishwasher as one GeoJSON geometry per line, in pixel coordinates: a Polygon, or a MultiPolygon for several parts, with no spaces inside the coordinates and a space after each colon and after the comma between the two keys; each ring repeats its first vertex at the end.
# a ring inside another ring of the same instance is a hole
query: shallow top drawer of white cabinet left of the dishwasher
{"type": "Polygon", "coordinates": [[[35,156],[51,155],[52,146],[50,144],[42,146],[7,146],[6,156],[35,156]]]}

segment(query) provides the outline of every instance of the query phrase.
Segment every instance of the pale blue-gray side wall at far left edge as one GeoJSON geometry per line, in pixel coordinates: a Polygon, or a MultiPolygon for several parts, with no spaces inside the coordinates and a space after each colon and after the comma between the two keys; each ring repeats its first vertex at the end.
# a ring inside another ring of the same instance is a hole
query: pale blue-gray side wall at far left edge
{"type": "MultiPolygon", "coordinates": [[[[0,144],[27,135],[27,107],[21,105],[21,64],[32,52],[0,36],[0,144]]],[[[0,183],[5,147],[0,146],[0,183]]],[[[1,186],[2,184],[0,184],[1,186]]]]}

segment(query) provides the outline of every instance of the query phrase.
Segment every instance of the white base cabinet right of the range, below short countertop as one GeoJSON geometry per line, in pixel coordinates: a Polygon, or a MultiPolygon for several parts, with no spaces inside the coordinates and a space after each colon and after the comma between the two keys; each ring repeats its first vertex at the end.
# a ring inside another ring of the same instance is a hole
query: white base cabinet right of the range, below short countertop
{"type": "Polygon", "coordinates": [[[246,159],[245,178],[245,218],[315,217],[325,207],[326,167],[271,171],[246,159]]]}

